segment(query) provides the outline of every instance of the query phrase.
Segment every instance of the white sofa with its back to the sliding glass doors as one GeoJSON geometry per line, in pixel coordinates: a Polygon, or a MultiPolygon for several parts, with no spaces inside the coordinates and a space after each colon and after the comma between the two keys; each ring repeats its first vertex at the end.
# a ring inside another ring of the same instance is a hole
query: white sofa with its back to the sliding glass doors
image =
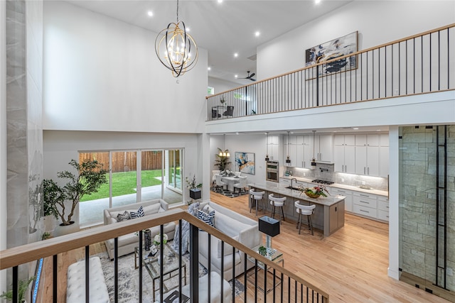
{"type": "MultiPolygon", "coordinates": [[[[167,211],[169,208],[169,204],[164,201],[163,199],[154,199],[134,204],[128,204],[123,206],[112,207],[110,209],[105,209],[104,211],[104,219],[105,225],[115,224],[117,223],[117,215],[123,214],[124,211],[137,211],[139,207],[142,206],[144,209],[144,216],[148,216],[151,214],[157,214],[162,211],[167,211]]],[[[134,220],[134,219],[133,219],[134,220]]],[[[153,238],[157,234],[159,234],[160,226],[154,226],[150,228],[151,230],[151,237],[153,238]]],[[[169,222],[164,224],[164,233],[168,235],[168,240],[173,239],[173,235],[176,230],[176,224],[174,222],[169,222]]],[[[130,233],[128,235],[119,236],[119,243],[118,243],[118,255],[127,255],[129,253],[134,252],[134,247],[138,246],[138,238],[137,235],[134,233],[130,233]]],[[[112,260],[114,259],[114,239],[109,239],[105,241],[107,253],[109,254],[109,258],[112,260]]]]}

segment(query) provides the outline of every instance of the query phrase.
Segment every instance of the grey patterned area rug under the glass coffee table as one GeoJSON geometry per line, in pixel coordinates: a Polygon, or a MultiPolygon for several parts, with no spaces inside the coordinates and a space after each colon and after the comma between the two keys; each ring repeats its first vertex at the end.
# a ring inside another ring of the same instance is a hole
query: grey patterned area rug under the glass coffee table
{"type": "MultiPolygon", "coordinates": [[[[109,292],[110,302],[114,302],[114,261],[109,259],[107,253],[97,254],[100,257],[102,270],[105,274],[107,292],[109,292]]],[[[182,262],[186,263],[187,282],[189,283],[189,260],[190,255],[186,253],[182,255],[182,262]]],[[[178,259],[176,259],[178,262],[178,259]]],[[[207,269],[199,264],[199,277],[207,273],[207,269]]],[[[119,257],[119,302],[139,302],[139,269],[134,269],[134,253],[119,257]]],[[[173,277],[165,283],[177,285],[178,277],[173,277]]],[[[151,277],[145,268],[142,270],[142,300],[143,302],[153,302],[151,277]]],[[[158,282],[156,282],[158,283],[158,282]]],[[[232,280],[229,282],[232,287],[232,280]]],[[[167,285],[167,284],[166,284],[167,285]]],[[[235,280],[235,295],[242,294],[245,287],[242,282],[235,280]]],[[[159,291],[156,292],[156,298],[159,298],[159,291]]]]}

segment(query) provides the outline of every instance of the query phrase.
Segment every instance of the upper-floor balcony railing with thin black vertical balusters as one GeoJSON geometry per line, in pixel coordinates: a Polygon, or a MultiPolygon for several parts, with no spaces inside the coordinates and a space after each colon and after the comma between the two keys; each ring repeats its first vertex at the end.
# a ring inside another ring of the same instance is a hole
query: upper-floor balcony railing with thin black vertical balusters
{"type": "Polygon", "coordinates": [[[206,121],[454,90],[454,65],[455,23],[210,95],[206,121]]]}

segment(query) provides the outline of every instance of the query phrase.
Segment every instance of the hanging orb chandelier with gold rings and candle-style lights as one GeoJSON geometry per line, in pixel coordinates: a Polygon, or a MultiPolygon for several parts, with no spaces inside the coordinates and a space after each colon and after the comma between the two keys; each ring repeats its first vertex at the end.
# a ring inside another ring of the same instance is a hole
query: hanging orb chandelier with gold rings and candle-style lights
{"type": "Polygon", "coordinates": [[[198,45],[193,37],[186,32],[185,23],[169,23],[155,40],[155,52],[165,67],[171,70],[173,77],[183,76],[198,62],[198,45]]]}

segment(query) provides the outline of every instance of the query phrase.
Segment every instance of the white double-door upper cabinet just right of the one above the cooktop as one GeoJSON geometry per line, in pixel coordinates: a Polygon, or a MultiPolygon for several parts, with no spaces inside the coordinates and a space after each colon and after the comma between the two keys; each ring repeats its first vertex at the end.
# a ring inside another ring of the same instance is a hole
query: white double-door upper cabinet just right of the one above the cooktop
{"type": "Polygon", "coordinates": [[[335,172],[355,173],[355,135],[337,135],[333,138],[335,172]]]}

